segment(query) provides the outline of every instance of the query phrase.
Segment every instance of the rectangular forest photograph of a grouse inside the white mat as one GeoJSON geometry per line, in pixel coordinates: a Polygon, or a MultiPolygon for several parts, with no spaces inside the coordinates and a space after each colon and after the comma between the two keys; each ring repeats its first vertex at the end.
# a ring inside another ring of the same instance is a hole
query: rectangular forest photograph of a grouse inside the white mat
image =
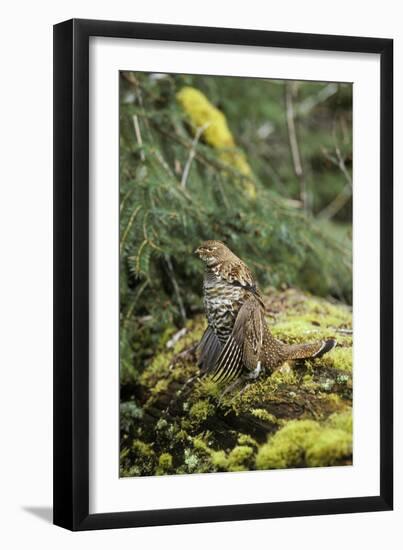
{"type": "Polygon", "coordinates": [[[119,73],[121,478],[353,464],[353,85],[119,73]]]}

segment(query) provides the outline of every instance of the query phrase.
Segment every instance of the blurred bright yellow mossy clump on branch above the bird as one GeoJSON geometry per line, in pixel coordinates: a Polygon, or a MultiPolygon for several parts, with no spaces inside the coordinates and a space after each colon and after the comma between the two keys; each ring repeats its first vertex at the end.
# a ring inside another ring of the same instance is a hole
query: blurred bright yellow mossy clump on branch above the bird
{"type": "Polygon", "coordinates": [[[205,142],[220,150],[220,159],[246,176],[243,179],[245,191],[251,198],[255,198],[256,187],[252,181],[251,167],[244,153],[236,148],[224,113],[214,107],[196,88],[185,86],[179,90],[176,97],[195,130],[202,129],[205,142]]]}

